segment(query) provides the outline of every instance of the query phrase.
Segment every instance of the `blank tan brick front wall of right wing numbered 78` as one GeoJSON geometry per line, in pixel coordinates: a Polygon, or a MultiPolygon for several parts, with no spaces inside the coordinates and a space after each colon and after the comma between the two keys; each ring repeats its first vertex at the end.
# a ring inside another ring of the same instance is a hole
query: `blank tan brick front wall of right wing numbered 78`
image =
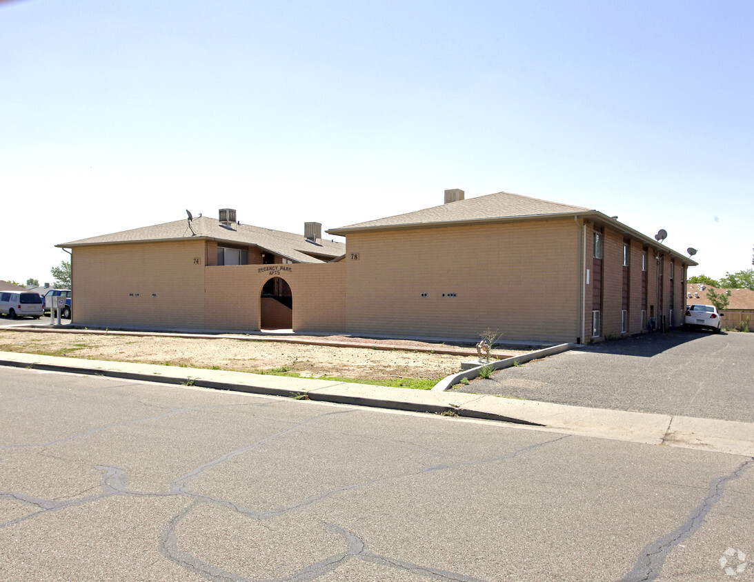
{"type": "Polygon", "coordinates": [[[573,342],[580,235],[573,219],[348,234],[346,328],[573,342]]]}

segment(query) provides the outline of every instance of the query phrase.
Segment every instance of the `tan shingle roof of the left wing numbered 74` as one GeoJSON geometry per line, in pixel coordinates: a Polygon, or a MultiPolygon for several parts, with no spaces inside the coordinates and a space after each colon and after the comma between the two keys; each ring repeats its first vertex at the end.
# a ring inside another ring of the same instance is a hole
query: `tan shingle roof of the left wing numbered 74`
{"type": "Polygon", "coordinates": [[[344,243],[324,239],[312,241],[307,240],[303,234],[274,231],[271,228],[260,228],[259,226],[238,223],[225,226],[218,219],[209,216],[199,216],[191,222],[185,219],[176,220],[161,225],[133,228],[130,231],[103,234],[99,237],[72,240],[69,243],[58,244],[56,247],[73,248],[95,244],[147,243],[191,240],[192,238],[216,240],[218,243],[225,244],[256,246],[295,262],[326,262],[329,259],[341,256],[345,251],[344,243]],[[315,256],[322,257],[325,260],[318,259],[315,256]]]}

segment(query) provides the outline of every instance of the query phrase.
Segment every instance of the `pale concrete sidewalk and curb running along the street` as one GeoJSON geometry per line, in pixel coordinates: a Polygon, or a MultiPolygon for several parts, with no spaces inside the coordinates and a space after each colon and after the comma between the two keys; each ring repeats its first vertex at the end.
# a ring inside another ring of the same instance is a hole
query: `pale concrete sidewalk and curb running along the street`
{"type": "Polygon", "coordinates": [[[462,418],[481,418],[579,436],[754,456],[754,424],[744,422],[591,409],[480,394],[420,391],[247,372],[106,362],[15,352],[0,352],[0,365],[105,375],[251,394],[306,397],[309,400],[329,403],[429,412],[462,418]]]}

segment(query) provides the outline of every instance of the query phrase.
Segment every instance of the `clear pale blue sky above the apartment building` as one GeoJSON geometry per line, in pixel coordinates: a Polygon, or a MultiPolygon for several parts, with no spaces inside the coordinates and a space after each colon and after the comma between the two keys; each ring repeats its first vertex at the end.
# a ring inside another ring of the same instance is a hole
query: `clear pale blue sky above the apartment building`
{"type": "Polygon", "coordinates": [[[0,0],[0,279],[185,209],[303,233],[446,188],[751,268],[752,38],[750,0],[0,0]]]}

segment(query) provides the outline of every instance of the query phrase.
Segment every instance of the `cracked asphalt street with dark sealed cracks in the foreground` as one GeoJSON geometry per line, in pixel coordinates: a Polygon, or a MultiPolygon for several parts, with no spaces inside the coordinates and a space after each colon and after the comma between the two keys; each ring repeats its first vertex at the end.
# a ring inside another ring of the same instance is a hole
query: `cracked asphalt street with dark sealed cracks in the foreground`
{"type": "Polygon", "coordinates": [[[730,580],[754,556],[752,458],[19,368],[0,403],[0,580],[730,580]]]}

